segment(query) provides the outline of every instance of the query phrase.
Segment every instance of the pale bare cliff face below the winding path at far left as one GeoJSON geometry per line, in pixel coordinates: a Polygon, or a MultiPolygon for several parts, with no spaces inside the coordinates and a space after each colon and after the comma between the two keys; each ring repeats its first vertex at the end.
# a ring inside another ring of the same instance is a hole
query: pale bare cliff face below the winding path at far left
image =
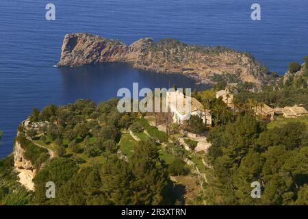
{"type": "Polygon", "coordinates": [[[25,149],[16,141],[14,144],[14,168],[18,172],[19,182],[28,190],[34,191],[32,179],[36,176],[36,168],[31,161],[25,159],[25,149]]]}

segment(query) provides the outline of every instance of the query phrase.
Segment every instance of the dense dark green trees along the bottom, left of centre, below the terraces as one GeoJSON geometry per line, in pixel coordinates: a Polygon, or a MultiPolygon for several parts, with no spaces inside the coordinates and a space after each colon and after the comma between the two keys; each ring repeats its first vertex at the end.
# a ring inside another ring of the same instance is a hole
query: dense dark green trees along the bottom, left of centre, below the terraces
{"type": "Polygon", "coordinates": [[[82,160],[55,158],[34,178],[41,205],[171,205],[172,182],[155,144],[139,142],[129,163],[110,155],[102,164],[78,168],[82,160]],[[46,182],[57,186],[46,198],[46,182]]]}

